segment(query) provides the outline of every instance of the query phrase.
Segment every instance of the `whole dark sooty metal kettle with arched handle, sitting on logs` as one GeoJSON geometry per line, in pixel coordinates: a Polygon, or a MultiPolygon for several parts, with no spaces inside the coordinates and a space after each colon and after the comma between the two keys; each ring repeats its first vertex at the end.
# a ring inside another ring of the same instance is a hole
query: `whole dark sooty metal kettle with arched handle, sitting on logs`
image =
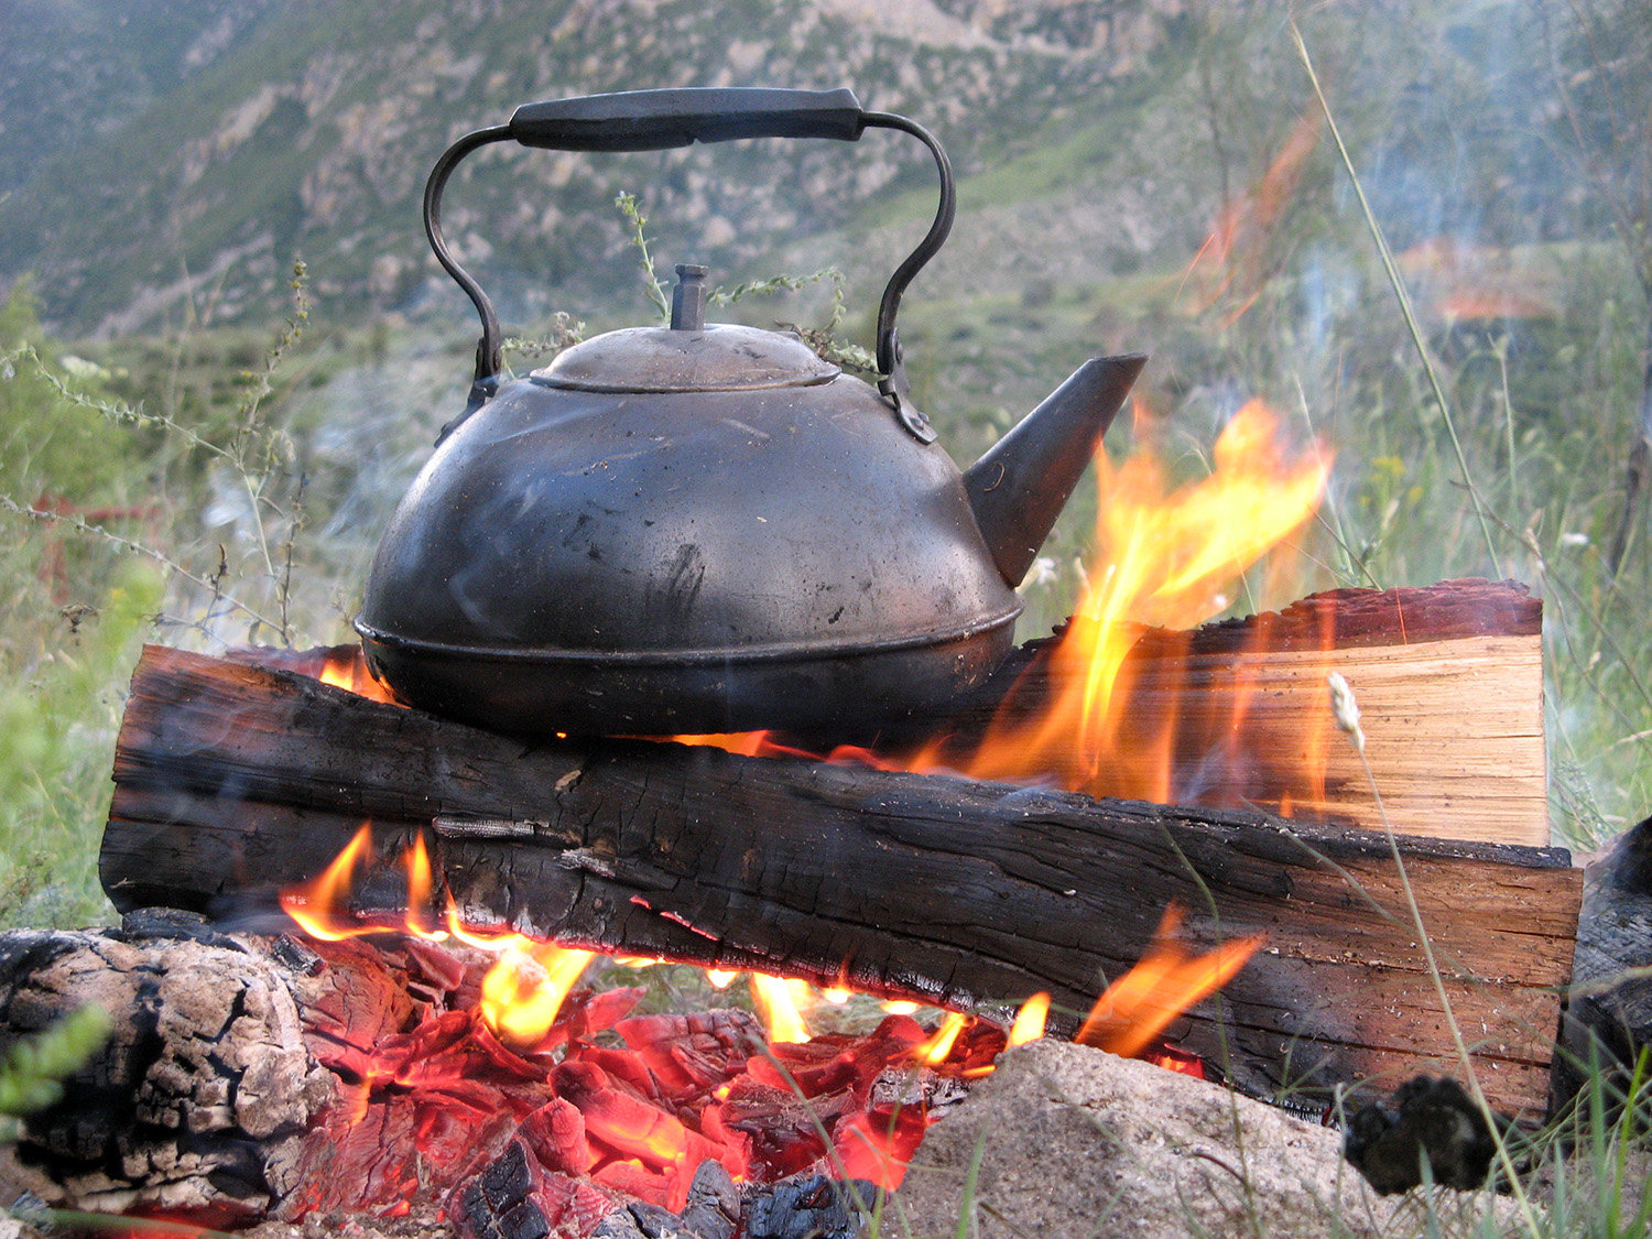
{"type": "Polygon", "coordinates": [[[854,94],[672,89],[517,109],[459,139],[425,192],[431,246],[482,319],[464,413],[403,497],[357,629],[408,704],[519,733],[856,733],[937,710],[1013,644],[1014,586],[1143,358],[1085,362],[968,471],[907,398],[895,312],[953,220],[945,152],[854,94]],[[499,380],[501,330],[448,253],[443,185],[502,140],[644,150],[745,137],[922,140],[940,208],[877,317],[874,387],[796,335],[704,322],[677,268],[669,327],[631,327],[499,380]]]}

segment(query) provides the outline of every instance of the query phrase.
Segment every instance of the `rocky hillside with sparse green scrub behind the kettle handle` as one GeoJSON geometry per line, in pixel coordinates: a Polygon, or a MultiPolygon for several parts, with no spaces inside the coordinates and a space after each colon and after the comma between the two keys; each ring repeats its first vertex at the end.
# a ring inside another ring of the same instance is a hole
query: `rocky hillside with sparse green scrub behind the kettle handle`
{"type": "MultiPolygon", "coordinates": [[[[1003,165],[1104,112],[1163,48],[1175,5],[195,0],[152,26],[126,8],[25,0],[5,18],[18,71],[0,99],[0,278],[35,271],[46,319],[69,330],[152,327],[185,299],[220,320],[268,316],[296,256],[325,296],[416,307],[438,274],[418,230],[431,162],[534,99],[849,84],[937,129],[960,173],[1003,165]],[[31,97],[51,107],[31,111],[31,97]]],[[[933,195],[922,149],[882,134],[859,149],[474,162],[453,187],[449,231],[517,312],[548,304],[544,289],[588,296],[620,278],[621,188],[724,273],[869,203],[904,218],[923,210],[900,205],[905,190],[933,195]]]]}

